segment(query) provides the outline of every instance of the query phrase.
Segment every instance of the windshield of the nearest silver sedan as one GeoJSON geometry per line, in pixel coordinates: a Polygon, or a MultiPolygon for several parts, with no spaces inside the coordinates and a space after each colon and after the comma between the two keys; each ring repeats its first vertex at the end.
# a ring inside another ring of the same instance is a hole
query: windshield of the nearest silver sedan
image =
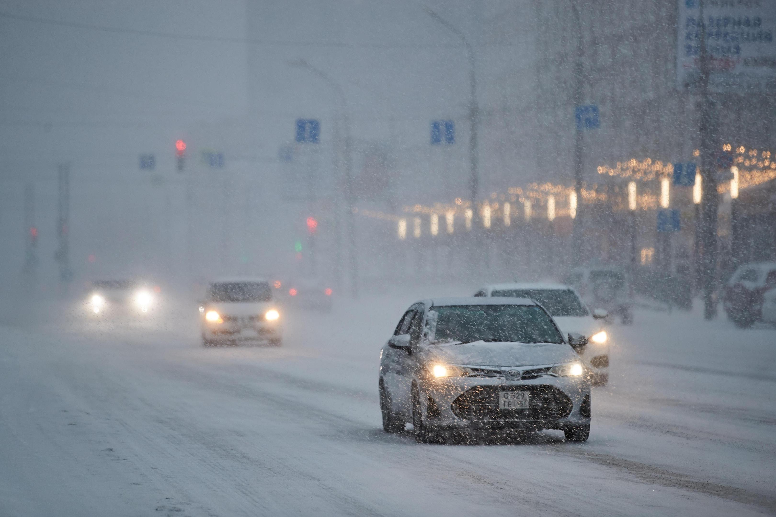
{"type": "Polygon", "coordinates": [[[553,319],[536,305],[445,305],[436,312],[436,342],[563,343],[553,319]]]}

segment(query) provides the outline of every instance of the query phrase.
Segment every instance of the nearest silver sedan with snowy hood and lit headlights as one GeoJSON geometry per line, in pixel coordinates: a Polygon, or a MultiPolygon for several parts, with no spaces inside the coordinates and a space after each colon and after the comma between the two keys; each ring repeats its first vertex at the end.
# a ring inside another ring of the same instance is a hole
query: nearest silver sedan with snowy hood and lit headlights
{"type": "Polygon", "coordinates": [[[434,298],[404,312],[380,352],[383,429],[418,442],[452,433],[561,429],[590,434],[587,339],[560,332],[526,298],[434,298]]]}

